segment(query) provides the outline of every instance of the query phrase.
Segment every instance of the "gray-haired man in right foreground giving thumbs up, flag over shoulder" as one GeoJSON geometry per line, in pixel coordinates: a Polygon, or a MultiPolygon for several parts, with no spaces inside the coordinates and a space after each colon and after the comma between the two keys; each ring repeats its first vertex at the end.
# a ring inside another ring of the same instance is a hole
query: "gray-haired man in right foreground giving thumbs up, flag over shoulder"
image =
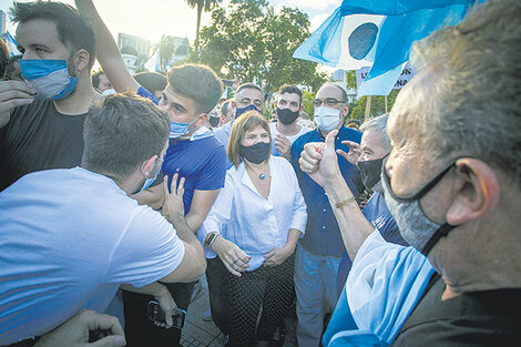
{"type": "MultiPolygon", "coordinates": [[[[354,204],[335,211],[351,231],[343,236],[354,265],[335,312],[344,323],[330,324],[325,346],[519,341],[520,43],[521,3],[488,0],[415,47],[420,72],[390,113],[382,170],[387,206],[412,247],[386,243],[369,223],[349,228],[364,217],[354,204]]],[[[353,194],[334,135],[300,163],[338,204],[353,194]]]]}

